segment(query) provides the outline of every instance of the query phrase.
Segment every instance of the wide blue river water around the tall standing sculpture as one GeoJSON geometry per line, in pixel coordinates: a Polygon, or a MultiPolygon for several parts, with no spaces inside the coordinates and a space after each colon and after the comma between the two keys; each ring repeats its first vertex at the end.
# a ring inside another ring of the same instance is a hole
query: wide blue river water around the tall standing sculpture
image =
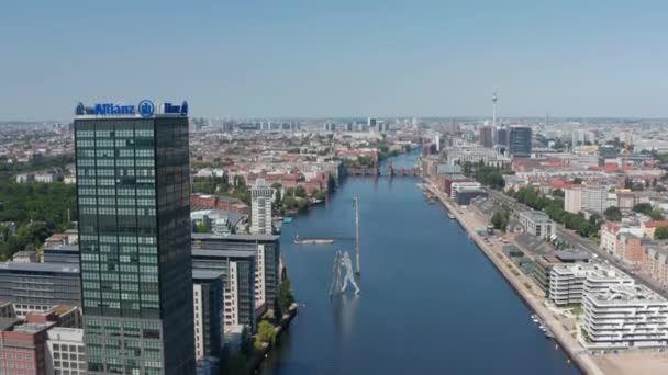
{"type": "MultiPolygon", "coordinates": [[[[415,155],[398,157],[412,167],[415,155]]],[[[416,178],[348,178],[326,205],[283,225],[282,250],[303,306],[264,375],[580,374],[416,178]],[[355,259],[360,200],[361,294],[331,299],[336,250],[355,259]],[[331,246],[292,238],[332,237],[331,246]]]]}

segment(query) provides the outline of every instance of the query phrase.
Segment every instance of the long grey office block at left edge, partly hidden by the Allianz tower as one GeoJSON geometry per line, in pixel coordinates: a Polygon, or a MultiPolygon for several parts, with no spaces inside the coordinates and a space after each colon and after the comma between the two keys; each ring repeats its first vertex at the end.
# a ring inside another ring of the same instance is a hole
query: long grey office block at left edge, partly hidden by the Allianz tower
{"type": "Polygon", "coordinates": [[[0,300],[12,302],[16,317],[55,305],[81,306],[79,265],[0,263],[0,300]]]}

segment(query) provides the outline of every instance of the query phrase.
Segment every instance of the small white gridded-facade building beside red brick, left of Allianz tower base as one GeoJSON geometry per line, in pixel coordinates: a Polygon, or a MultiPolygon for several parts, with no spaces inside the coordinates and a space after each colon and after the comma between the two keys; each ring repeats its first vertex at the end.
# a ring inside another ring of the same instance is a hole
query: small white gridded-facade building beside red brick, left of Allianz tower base
{"type": "Polygon", "coordinates": [[[54,327],[46,331],[45,346],[47,375],[88,374],[84,330],[54,327]]]}

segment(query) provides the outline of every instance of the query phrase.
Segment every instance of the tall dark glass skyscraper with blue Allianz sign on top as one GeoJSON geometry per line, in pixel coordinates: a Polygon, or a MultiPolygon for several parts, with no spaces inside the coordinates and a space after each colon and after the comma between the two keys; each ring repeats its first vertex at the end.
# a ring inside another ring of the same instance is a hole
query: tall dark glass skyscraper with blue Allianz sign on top
{"type": "Polygon", "coordinates": [[[130,110],[75,118],[89,373],[193,374],[188,117],[130,110]]]}

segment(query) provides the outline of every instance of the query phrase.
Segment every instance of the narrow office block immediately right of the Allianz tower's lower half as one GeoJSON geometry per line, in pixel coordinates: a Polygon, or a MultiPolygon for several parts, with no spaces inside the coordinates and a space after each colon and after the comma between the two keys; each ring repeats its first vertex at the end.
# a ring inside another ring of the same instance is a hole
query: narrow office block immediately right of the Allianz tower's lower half
{"type": "Polygon", "coordinates": [[[194,355],[198,361],[220,356],[223,344],[223,273],[192,271],[194,355]]]}

